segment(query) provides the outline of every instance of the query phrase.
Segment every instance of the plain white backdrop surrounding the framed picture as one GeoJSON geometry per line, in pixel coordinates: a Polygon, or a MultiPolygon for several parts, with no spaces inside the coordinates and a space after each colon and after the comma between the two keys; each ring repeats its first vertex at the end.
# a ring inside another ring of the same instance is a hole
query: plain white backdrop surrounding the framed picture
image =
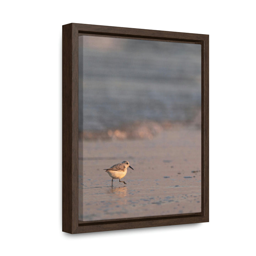
{"type": "Polygon", "coordinates": [[[1,255],[252,255],[253,1],[5,1],[0,40],[1,255]],[[61,231],[62,25],[210,34],[210,222],[61,231]],[[251,234],[252,232],[252,234],[251,234]]]}

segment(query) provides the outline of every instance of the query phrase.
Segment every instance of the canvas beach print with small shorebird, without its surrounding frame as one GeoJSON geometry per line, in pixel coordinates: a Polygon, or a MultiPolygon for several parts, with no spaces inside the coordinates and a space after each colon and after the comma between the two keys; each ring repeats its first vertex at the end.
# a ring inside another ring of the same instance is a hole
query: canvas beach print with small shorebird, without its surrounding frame
{"type": "Polygon", "coordinates": [[[201,45],[79,36],[79,221],[201,212],[201,45]]]}

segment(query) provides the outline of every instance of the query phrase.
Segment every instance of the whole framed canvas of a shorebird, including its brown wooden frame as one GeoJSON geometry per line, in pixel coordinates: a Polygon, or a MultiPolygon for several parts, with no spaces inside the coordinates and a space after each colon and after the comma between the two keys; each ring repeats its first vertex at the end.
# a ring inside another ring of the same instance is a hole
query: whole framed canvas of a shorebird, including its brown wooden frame
{"type": "Polygon", "coordinates": [[[209,36],[63,25],[63,231],[209,221],[209,36]]]}

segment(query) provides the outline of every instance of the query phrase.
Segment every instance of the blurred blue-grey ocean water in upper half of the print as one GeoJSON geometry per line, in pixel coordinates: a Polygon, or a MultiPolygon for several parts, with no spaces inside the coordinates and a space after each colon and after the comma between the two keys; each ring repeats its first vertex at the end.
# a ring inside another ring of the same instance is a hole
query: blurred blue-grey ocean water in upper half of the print
{"type": "Polygon", "coordinates": [[[201,45],[80,36],[80,130],[188,122],[201,110],[201,45]]]}

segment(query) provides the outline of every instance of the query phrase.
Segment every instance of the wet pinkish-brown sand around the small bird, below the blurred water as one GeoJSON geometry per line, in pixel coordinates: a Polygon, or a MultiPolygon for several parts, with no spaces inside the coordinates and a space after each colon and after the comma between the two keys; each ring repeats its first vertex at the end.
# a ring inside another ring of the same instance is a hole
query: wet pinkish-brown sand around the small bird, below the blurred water
{"type": "Polygon", "coordinates": [[[84,141],[79,220],[201,212],[201,130],[176,126],[153,139],[84,141]],[[103,169],[129,161],[113,181],[103,169]]]}

